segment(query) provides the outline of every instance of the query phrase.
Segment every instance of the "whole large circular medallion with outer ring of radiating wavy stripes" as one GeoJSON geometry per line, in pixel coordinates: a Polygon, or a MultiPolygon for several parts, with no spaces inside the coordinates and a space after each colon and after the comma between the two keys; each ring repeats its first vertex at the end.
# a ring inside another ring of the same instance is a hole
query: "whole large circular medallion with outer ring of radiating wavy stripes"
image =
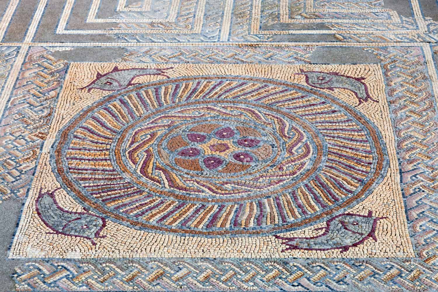
{"type": "Polygon", "coordinates": [[[72,119],[53,167],[88,208],[137,229],[284,232],[363,200],[386,169],[375,127],[299,84],[200,76],[115,92],[72,119]]]}

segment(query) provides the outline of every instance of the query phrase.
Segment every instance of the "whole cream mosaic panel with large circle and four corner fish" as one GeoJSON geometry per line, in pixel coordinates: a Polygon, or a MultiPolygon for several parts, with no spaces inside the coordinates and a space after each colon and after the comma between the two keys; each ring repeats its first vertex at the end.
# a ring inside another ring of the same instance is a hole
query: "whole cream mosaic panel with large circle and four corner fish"
{"type": "Polygon", "coordinates": [[[413,255],[380,68],[166,66],[70,65],[11,257],[413,255]]]}

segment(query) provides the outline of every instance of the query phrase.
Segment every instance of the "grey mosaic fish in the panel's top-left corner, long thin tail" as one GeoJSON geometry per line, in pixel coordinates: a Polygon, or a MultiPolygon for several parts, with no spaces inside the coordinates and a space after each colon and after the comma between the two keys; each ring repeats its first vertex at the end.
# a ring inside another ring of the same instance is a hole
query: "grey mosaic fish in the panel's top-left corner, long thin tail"
{"type": "Polygon", "coordinates": [[[87,89],[90,92],[92,89],[100,89],[106,91],[115,91],[127,88],[128,86],[134,85],[132,81],[139,76],[144,75],[160,75],[169,78],[166,71],[170,68],[165,69],[148,69],[148,68],[131,68],[131,69],[119,69],[117,66],[113,70],[100,74],[97,72],[96,78],[91,81],[90,84],[79,89],[87,89]]]}

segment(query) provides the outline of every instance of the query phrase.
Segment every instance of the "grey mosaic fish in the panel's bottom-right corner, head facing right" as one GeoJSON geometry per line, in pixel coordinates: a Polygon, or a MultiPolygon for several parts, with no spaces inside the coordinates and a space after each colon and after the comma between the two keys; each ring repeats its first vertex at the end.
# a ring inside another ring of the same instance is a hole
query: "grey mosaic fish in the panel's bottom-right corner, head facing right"
{"type": "Polygon", "coordinates": [[[283,244],[288,246],[282,252],[286,250],[335,249],[346,252],[350,247],[358,246],[370,237],[377,241],[374,234],[377,221],[385,218],[387,217],[373,217],[372,211],[368,211],[368,215],[344,213],[331,218],[327,221],[325,227],[315,229],[324,229],[321,235],[312,237],[283,237],[275,235],[275,237],[285,240],[283,244]]]}

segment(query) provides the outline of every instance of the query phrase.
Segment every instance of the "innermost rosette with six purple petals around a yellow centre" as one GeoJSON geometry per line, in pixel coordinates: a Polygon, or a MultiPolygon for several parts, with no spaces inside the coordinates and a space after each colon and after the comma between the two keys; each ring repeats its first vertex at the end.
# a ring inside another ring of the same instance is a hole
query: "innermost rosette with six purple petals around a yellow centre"
{"type": "Polygon", "coordinates": [[[279,155],[278,139],[271,133],[239,122],[190,123],[177,132],[160,146],[175,168],[193,175],[227,177],[251,172],[279,155]]]}

